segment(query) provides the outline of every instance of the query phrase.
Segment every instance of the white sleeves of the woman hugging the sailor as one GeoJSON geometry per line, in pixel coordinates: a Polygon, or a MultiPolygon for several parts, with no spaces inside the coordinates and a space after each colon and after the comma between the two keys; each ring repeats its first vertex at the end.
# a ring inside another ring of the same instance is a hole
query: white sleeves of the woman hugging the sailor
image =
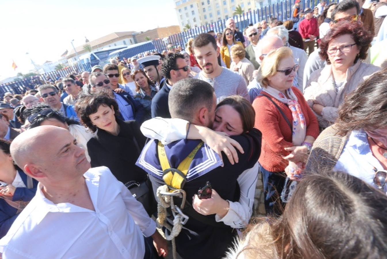
{"type": "MultiPolygon", "coordinates": [[[[140,130],[144,136],[158,139],[164,145],[173,141],[186,139],[188,121],[180,118],[155,117],[142,123],[140,130]]],[[[258,180],[259,163],[239,175],[240,198],[237,202],[228,201],[227,214],[221,218],[217,214],[215,220],[232,228],[243,228],[248,224],[253,213],[255,186],[258,180]]]]}

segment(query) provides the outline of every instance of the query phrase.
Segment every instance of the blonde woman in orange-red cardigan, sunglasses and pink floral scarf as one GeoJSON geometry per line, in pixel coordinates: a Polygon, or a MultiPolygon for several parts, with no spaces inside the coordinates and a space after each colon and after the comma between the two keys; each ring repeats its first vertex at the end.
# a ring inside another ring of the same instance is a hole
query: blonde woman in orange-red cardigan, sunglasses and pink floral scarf
{"type": "Polygon", "coordinates": [[[319,123],[302,93],[293,86],[298,65],[292,51],[281,47],[262,61],[258,80],[263,87],[254,102],[255,128],[262,132],[260,172],[268,214],[281,214],[279,201],[286,176],[291,180],[302,172],[319,123]]]}

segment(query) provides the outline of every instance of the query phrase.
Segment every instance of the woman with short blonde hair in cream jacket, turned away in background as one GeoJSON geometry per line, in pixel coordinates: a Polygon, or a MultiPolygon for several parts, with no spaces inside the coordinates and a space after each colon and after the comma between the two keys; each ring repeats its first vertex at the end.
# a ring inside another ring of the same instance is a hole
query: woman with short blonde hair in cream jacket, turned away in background
{"type": "Polygon", "coordinates": [[[254,65],[246,58],[246,51],[242,46],[231,47],[231,60],[233,62],[231,62],[230,69],[240,74],[247,85],[254,80],[254,65]]]}

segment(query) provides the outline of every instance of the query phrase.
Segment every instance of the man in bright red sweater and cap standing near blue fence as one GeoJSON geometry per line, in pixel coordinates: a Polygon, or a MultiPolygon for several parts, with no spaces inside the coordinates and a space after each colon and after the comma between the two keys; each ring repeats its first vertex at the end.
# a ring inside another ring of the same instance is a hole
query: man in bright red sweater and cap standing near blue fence
{"type": "Polygon", "coordinates": [[[313,17],[312,12],[312,9],[306,8],[304,11],[305,19],[298,26],[298,31],[304,41],[304,50],[308,50],[309,55],[314,51],[316,39],[319,37],[319,25],[317,24],[317,19],[313,17]]]}

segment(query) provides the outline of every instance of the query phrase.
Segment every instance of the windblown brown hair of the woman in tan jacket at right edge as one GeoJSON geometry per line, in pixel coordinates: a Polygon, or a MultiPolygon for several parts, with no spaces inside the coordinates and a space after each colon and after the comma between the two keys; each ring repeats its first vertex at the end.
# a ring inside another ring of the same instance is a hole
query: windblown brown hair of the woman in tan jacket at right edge
{"type": "Polygon", "coordinates": [[[387,70],[366,79],[339,108],[336,127],[344,136],[352,130],[387,127],[387,70]]]}

